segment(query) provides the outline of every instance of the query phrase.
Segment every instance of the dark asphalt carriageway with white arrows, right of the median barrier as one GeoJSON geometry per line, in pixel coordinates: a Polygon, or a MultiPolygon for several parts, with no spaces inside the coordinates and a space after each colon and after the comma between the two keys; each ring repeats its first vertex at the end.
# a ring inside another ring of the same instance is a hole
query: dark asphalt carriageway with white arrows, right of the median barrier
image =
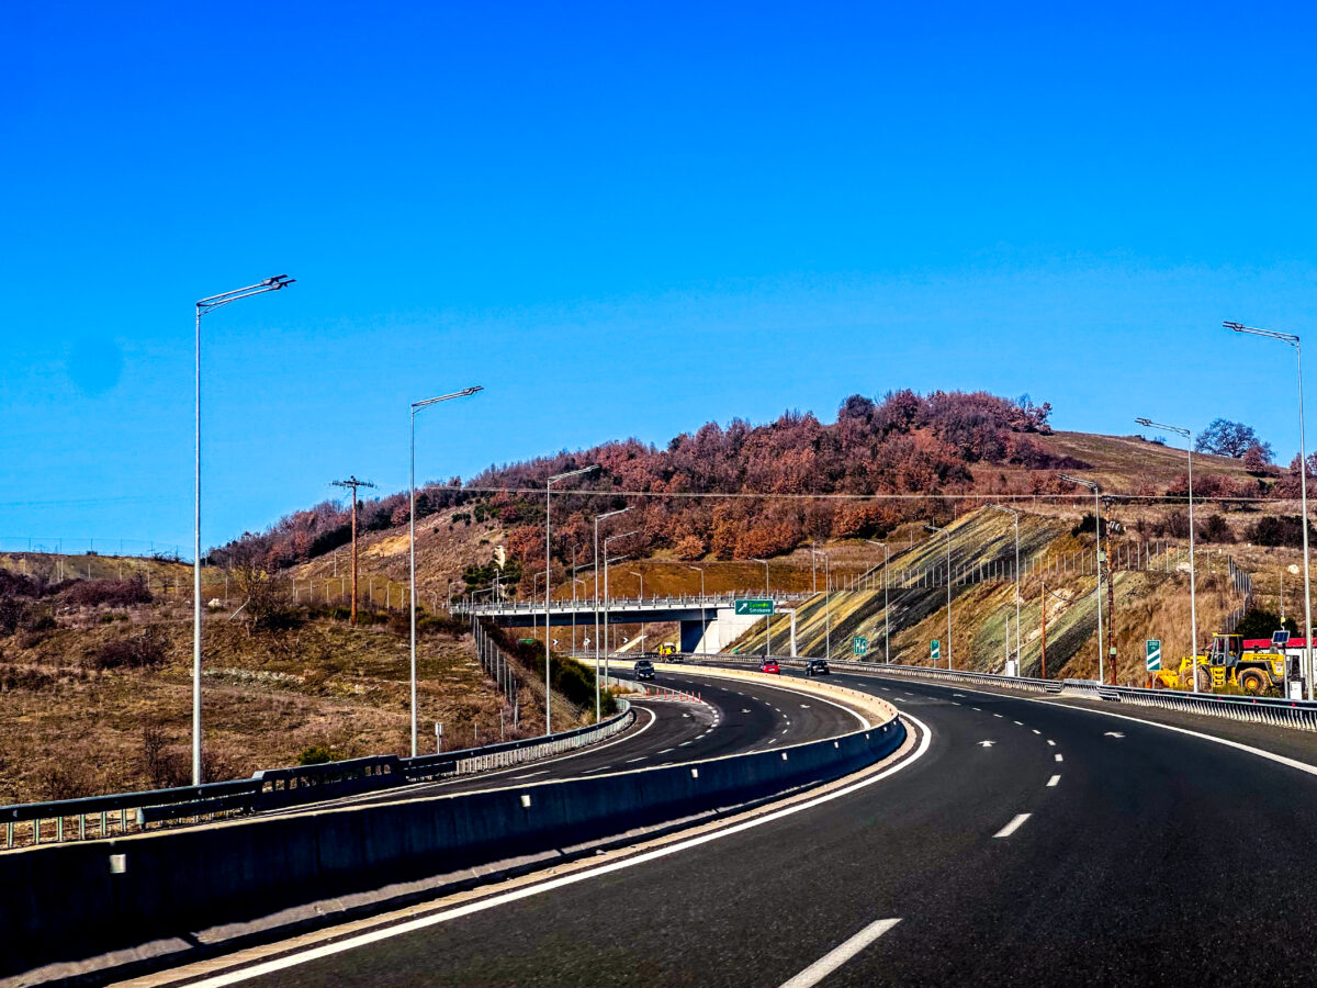
{"type": "Polygon", "coordinates": [[[926,725],[922,756],[752,826],[200,983],[1312,980],[1317,769],[1046,700],[834,680],[926,725]]]}

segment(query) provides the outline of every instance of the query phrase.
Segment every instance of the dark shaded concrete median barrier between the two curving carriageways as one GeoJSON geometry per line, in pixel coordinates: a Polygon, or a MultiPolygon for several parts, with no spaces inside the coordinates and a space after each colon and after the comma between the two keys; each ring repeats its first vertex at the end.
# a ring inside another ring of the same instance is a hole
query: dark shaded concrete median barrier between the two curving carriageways
{"type": "Polygon", "coordinates": [[[749,755],[13,851],[0,855],[0,975],[763,798],[903,738],[893,715],[749,755]]]}

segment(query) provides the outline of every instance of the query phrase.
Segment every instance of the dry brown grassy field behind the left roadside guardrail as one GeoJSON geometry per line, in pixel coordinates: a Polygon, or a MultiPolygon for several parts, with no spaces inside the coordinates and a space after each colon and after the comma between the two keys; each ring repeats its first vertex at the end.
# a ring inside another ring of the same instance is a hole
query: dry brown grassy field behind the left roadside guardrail
{"type": "MultiPolygon", "coordinates": [[[[188,614],[170,605],[62,614],[54,631],[0,639],[0,802],[161,784],[145,764],[146,727],[162,732],[175,764],[190,765],[188,614]],[[162,667],[95,671],[97,647],[148,626],[166,643],[162,667]]],[[[500,710],[511,723],[469,636],[423,635],[417,657],[423,751],[433,750],[435,721],[448,747],[470,744],[477,728],[486,743],[498,738],[500,710]]],[[[211,619],[203,684],[209,779],[294,764],[316,746],[344,757],[410,751],[408,643],[385,627],[320,619],[249,635],[211,619]]],[[[529,693],[524,705],[523,727],[537,732],[539,705],[529,693]]]]}

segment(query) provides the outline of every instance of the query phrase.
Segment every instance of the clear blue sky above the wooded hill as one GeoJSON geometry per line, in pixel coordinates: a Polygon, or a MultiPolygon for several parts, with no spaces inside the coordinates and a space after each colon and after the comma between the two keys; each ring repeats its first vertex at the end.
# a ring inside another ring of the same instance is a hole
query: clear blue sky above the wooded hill
{"type": "Polygon", "coordinates": [[[419,476],[905,386],[1288,461],[1218,327],[1313,328],[1313,8],[1075,8],[9,4],[0,536],[190,544],[192,302],[278,273],[205,324],[208,544],[469,383],[419,476]]]}

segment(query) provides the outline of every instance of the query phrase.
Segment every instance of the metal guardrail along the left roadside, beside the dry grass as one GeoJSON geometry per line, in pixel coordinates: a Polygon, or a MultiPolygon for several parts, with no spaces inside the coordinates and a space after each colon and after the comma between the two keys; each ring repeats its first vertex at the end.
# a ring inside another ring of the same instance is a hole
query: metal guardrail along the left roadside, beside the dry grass
{"type": "Polygon", "coordinates": [[[141,833],[153,825],[200,823],[553,757],[605,740],[630,727],[635,714],[626,700],[619,702],[623,709],[607,721],[549,738],[524,738],[415,759],[373,755],[319,765],[262,769],[252,779],[227,782],[0,806],[3,850],[94,840],[141,833]]]}

